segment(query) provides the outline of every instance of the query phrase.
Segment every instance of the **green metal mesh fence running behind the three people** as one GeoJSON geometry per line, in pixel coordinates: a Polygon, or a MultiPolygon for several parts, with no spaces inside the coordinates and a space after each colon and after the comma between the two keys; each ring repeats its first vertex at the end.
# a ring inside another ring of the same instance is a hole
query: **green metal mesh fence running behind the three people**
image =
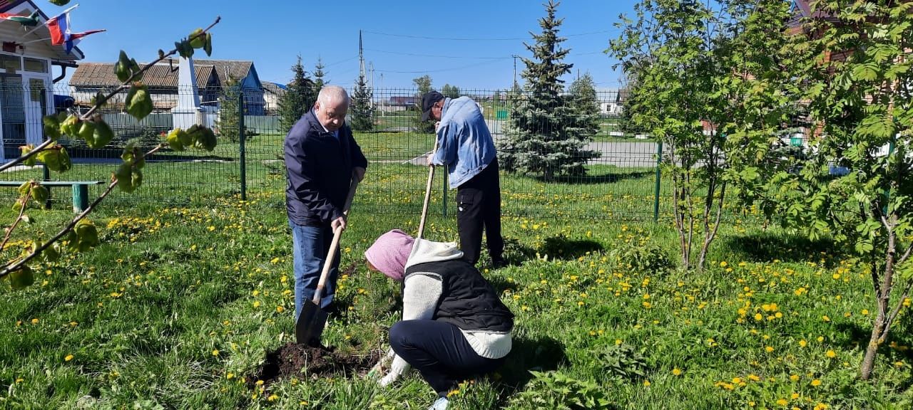
{"type": "MultiPolygon", "coordinates": [[[[37,144],[44,138],[41,114],[60,110],[85,112],[91,97],[99,90],[100,87],[57,87],[35,93],[30,87],[22,87],[22,83],[18,87],[12,84],[0,87],[5,160],[15,159],[24,143],[37,144]],[[37,103],[33,97],[37,97],[37,103]]],[[[155,110],[142,121],[123,112],[122,98],[114,98],[100,110],[116,135],[109,148],[89,149],[79,139],[62,138],[59,142],[68,149],[73,169],[46,174],[40,166],[17,167],[0,174],[0,179],[109,179],[121,163],[121,151],[128,141],[151,149],[163,140],[163,133],[186,121],[188,114],[180,106],[183,98],[193,97],[192,90],[151,87],[150,91],[155,110]]],[[[115,192],[110,200],[181,204],[242,192],[285,189],[282,143],[288,130],[282,127],[280,93],[265,92],[262,88],[208,87],[199,89],[197,95],[200,108],[194,110],[192,119],[194,123],[214,128],[219,138],[215,151],[162,149],[147,159],[149,165],[144,169],[142,189],[131,194],[115,192]],[[243,138],[239,133],[242,128],[243,138]]],[[[350,95],[354,95],[352,90],[350,95]]],[[[419,121],[419,95],[413,88],[373,89],[371,127],[354,130],[355,139],[370,164],[368,178],[356,199],[363,211],[421,211],[428,175],[425,155],[433,148],[435,137],[433,125],[419,121]]],[[[517,115],[514,108],[529,96],[506,89],[465,89],[461,95],[477,102],[499,147],[519,132],[514,126],[517,115]]],[[[585,172],[547,177],[540,173],[509,172],[502,165],[502,210],[507,217],[650,220],[668,215],[671,209],[667,183],[663,183],[656,167],[660,147],[648,136],[625,128],[624,95],[605,91],[596,92],[594,97],[591,104],[594,132],[574,137],[581,138],[582,149],[595,152],[592,159],[585,161],[585,172]]],[[[554,116],[555,112],[542,115],[554,116]]],[[[559,124],[579,126],[572,115],[564,115],[558,118],[559,124]]],[[[535,114],[532,117],[535,121],[535,114]]],[[[452,214],[454,192],[446,190],[445,173],[443,169],[436,172],[432,210],[452,214]]],[[[102,189],[102,186],[93,187],[90,197],[94,198],[102,189]]],[[[12,196],[15,190],[0,193],[12,196]]],[[[68,205],[66,192],[61,190],[55,195],[56,200],[68,205]]]]}

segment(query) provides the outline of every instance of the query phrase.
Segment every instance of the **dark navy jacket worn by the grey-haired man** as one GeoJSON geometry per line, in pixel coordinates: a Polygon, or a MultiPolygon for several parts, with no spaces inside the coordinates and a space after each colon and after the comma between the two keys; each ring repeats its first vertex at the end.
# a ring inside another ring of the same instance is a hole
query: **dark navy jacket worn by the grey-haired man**
{"type": "Polygon", "coordinates": [[[289,220],[306,226],[326,225],[341,217],[352,169],[368,167],[362,149],[352,138],[352,128],[343,125],[337,139],[323,130],[313,109],[289,130],[285,160],[289,220]]]}

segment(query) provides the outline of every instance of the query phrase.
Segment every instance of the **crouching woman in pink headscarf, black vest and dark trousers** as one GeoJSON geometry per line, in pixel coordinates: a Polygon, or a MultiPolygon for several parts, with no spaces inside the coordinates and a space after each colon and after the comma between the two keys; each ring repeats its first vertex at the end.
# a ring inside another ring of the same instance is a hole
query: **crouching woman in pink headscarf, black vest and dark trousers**
{"type": "MultiPolygon", "coordinates": [[[[454,242],[414,240],[404,231],[381,235],[364,252],[368,269],[402,282],[403,320],[390,328],[393,383],[416,370],[446,409],[447,393],[461,380],[498,368],[510,352],[513,313],[498,292],[463,259],[454,242]]],[[[383,360],[376,369],[383,369],[383,360]]]]}

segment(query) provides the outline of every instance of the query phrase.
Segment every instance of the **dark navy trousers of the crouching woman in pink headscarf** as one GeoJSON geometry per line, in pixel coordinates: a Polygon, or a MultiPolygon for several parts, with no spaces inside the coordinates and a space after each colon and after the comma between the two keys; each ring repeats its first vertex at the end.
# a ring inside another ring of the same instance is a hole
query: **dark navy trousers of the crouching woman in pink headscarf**
{"type": "Polygon", "coordinates": [[[456,325],[438,321],[395,323],[390,328],[390,347],[412,364],[441,397],[446,397],[461,380],[493,372],[505,360],[478,355],[456,325]]]}

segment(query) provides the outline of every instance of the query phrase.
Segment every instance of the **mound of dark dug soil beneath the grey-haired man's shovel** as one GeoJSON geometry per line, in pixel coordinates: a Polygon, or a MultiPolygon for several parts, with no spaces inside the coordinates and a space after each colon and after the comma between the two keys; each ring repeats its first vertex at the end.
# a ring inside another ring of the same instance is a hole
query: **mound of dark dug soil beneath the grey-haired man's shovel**
{"type": "Polygon", "coordinates": [[[310,347],[298,343],[286,343],[267,354],[266,363],[256,373],[246,377],[247,386],[254,388],[258,380],[269,385],[283,377],[326,377],[343,374],[363,375],[377,363],[380,355],[376,351],[363,356],[341,354],[328,347],[310,347]]]}

